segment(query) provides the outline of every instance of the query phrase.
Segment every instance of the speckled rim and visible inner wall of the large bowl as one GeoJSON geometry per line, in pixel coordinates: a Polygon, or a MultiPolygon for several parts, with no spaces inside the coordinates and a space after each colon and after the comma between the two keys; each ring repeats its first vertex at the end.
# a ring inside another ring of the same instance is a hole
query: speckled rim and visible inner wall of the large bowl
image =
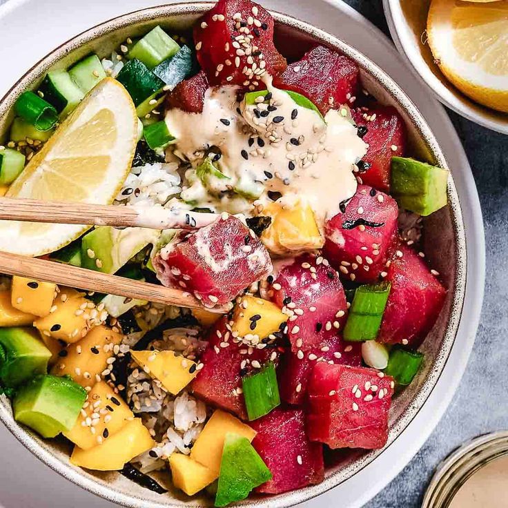
{"type": "MultiPolygon", "coordinates": [[[[127,37],[141,35],[157,24],[169,32],[186,36],[199,14],[210,7],[211,3],[193,3],[150,8],[108,21],[64,43],[28,71],[6,97],[3,97],[0,102],[1,138],[6,138],[7,128],[13,116],[12,104],[17,96],[27,88],[36,88],[48,70],[66,68],[92,51],[97,52],[100,57],[109,56],[110,52],[127,37]]],[[[447,162],[424,119],[404,92],[382,70],[339,39],[302,21],[283,14],[273,14],[277,22],[277,46],[284,55],[296,59],[315,43],[323,43],[344,52],[360,66],[364,88],[382,103],[398,108],[404,117],[409,130],[410,154],[447,168],[447,162]]],[[[422,345],[421,351],[425,354],[424,369],[409,389],[395,397],[390,418],[389,442],[384,450],[389,449],[389,444],[407,427],[431,393],[451,351],[460,320],[466,275],[465,233],[458,196],[451,177],[449,206],[424,222],[424,244],[427,248],[427,257],[441,273],[444,285],[448,289],[447,302],[436,326],[422,345]]],[[[12,419],[10,402],[4,396],[0,398],[0,418],[32,453],[52,469],[104,498],[131,507],[197,507],[210,504],[206,498],[189,500],[186,496],[182,496],[171,486],[167,471],[157,473],[157,480],[168,488],[170,493],[159,496],[138,487],[118,473],[93,473],[73,467],[68,462],[70,443],[65,440],[41,440],[19,427],[12,419]]],[[[326,478],[322,484],[270,498],[270,506],[291,506],[317,496],[360,471],[379,453],[387,452],[326,453],[326,478]]],[[[252,498],[243,504],[266,506],[266,498],[252,498]]]]}

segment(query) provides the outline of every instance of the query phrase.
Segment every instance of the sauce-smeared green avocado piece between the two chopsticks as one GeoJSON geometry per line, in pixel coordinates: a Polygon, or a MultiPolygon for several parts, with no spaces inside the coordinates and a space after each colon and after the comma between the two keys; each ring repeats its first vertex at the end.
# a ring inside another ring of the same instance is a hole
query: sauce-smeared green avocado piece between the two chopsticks
{"type": "Polygon", "coordinates": [[[115,273],[142,248],[157,242],[158,237],[159,232],[153,229],[99,226],[81,240],[81,266],[115,273]]]}

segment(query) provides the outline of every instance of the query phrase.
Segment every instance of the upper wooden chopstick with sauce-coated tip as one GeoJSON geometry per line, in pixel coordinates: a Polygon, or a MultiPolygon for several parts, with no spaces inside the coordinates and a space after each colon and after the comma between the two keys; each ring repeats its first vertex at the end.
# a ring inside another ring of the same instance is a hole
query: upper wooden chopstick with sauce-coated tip
{"type": "Polygon", "coordinates": [[[194,229],[208,226],[215,213],[194,213],[162,206],[108,206],[0,197],[0,219],[50,224],[86,224],[151,229],[194,229]]]}

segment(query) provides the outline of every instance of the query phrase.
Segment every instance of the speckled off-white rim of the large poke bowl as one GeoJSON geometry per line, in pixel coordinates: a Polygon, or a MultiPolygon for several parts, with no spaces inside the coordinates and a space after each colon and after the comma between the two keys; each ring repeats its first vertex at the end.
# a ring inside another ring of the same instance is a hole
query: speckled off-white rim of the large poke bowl
{"type": "MultiPolygon", "coordinates": [[[[328,0],[327,0],[328,1],[328,0]]],[[[66,52],[70,50],[74,50],[79,46],[83,46],[88,41],[92,41],[97,38],[98,35],[104,35],[104,33],[100,32],[101,28],[106,28],[105,33],[114,32],[119,28],[123,28],[124,26],[130,24],[130,21],[133,23],[139,23],[141,21],[153,21],[153,17],[150,17],[150,13],[157,12],[157,16],[178,16],[181,14],[199,14],[204,12],[213,6],[213,2],[210,1],[198,1],[198,2],[188,2],[188,3],[177,3],[170,4],[164,6],[153,6],[150,8],[144,8],[141,10],[135,10],[133,12],[128,12],[126,14],[121,14],[118,17],[114,17],[113,19],[109,19],[108,21],[104,21],[102,23],[81,32],[79,35],[68,39],[68,41],[62,43],[60,46],[52,50],[46,57],[43,57],[37,64],[32,66],[28,72],[26,72],[23,77],[21,77],[13,86],[6,92],[6,95],[0,99],[0,111],[6,109],[6,104],[8,101],[7,98],[12,98],[13,95],[17,95],[19,90],[24,90],[26,88],[27,81],[30,81],[30,77],[33,74],[41,75],[43,70],[56,61],[59,61],[62,57],[66,55],[66,52]],[[99,32],[99,34],[97,33],[99,32]]],[[[404,108],[406,113],[410,114],[411,121],[413,125],[420,132],[422,137],[424,137],[427,148],[431,151],[431,153],[438,159],[438,164],[441,164],[445,168],[449,168],[447,165],[447,161],[439,147],[438,141],[431,133],[429,126],[424,121],[422,115],[420,114],[418,108],[413,104],[411,99],[402,91],[402,89],[395,84],[395,82],[384,72],[381,70],[376,64],[373,63],[370,59],[365,57],[361,52],[355,50],[352,46],[347,43],[344,43],[338,37],[328,34],[324,32],[324,30],[320,30],[319,28],[315,28],[311,26],[309,23],[304,21],[300,21],[295,17],[291,17],[287,14],[282,14],[280,12],[276,12],[271,10],[275,20],[279,23],[285,24],[286,26],[290,26],[291,28],[295,28],[305,35],[310,35],[314,39],[323,41],[324,43],[329,43],[335,48],[338,48],[346,55],[349,55],[355,59],[355,61],[360,65],[361,68],[367,70],[370,75],[373,75],[384,87],[384,90],[389,92],[391,97],[397,102],[399,106],[404,108]]],[[[466,250],[466,242],[465,242],[465,227],[462,220],[462,211],[460,209],[460,203],[458,200],[458,194],[456,192],[456,188],[453,184],[453,178],[451,178],[451,185],[449,185],[449,204],[452,208],[453,215],[453,233],[456,239],[456,280],[453,288],[453,302],[452,309],[450,311],[451,318],[447,323],[446,331],[444,333],[444,339],[442,341],[441,349],[446,349],[444,351],[444,355],[438,356],[436,362],[434,362],[431,371],[427,375],[427,380],[420,387],[419,392],[415,395],[415,397],[411,400],[411,404],[407,409],[402,411],[398,420],[394,422],[390,430],[389,442],[387,446],[382,450],[371,451],[367,453],[362,459],[358,460],[358,464],[355,463],[353,467],[346,468],[350,473],[346,473],[344,476],[346,478],[335,478],[337,473],[328,476],[325,478],[324,482],[313,485],[311,487],[306,487],[304,489],[299,489],[297,491],[289,492],[286,494],[282,494],[279,496],[271,497],[270,505],[272,507],[286,507],[298,504],[300,502],[304,502],[305,500],[309,500],[324,492],[340,485],[340,483],[344,482],[347,478],[351,478],[356,473],[358,473],[364,467],[367,467],[370,462],[372,462],[375,458],[377,458],[381,453],[384,453],[389,449],[390,445],[400,436],[400,434],[404,431],[404,429],[411,423],[413,418],[416,418],[420,409],[422,409],[424,403],[427,401],[427,398],[431,395],[433,388],[436,386],[440,374],[442,373],[447,359],[451,353],[451,349],[453,347],[453,342],[456,337],[456,333],[458,330],[458,325],[460,323],[462,317],[462,306],[465,301],[465,283],[467,276],[467,250],[466,250]],[[439,361],[438,361],[439,360],[439,361]],[[433,373],[433,375],[431,375],[433,373]],[[429,382],[430,381],[430,382],[429,382]]],[[[3,401],[2,401],[3,402],[3,401]]],[[[57,456],[50,450],[50,446],[47,442],[35,437],[32,433],[26,431],[21,428],[16,422],[14,422],[12,418],[12,413],[10,409],[8,409],[5,404],[0,404],[0,420],[6,424],[6,427],[11,431],[11,433],[26,447],[28,448],[37,458],[39,458],[46,465],[50,466],[54,471],[57,471],[61,476],[67,478],[68,480],[74,482],[76,485],[86,489],[87,491],[92,492],[102,498],[106,498],[113,502],[120,502],[124,506],[128,507],[139,507],[146,508],[148,506],[151,507],[168,507],[168,506],[177,506],[170,505],[168,503],[159,504],[157,502],[153,502],[152,500],[146,501],[143,498],[139,498],[137,496],[132,496],[125,494],[123,491],[119,489],[114,489],[110,485],[107,485],[106,482],[102,480],[98,480],[87,474],[76,467],[72,467],[70,464],[66,464],[59,460],[57,456]]],[[[251,499],[248,502],[243,502],[242,505],[245,506],[259,506],[264,505],[262,502],[264,498],[259,499],[251,499]]],[[[181,506],[181,505],[178,505],[181,506]]],[[[187,504],[187,506],[199,506],[187,504]]]]}

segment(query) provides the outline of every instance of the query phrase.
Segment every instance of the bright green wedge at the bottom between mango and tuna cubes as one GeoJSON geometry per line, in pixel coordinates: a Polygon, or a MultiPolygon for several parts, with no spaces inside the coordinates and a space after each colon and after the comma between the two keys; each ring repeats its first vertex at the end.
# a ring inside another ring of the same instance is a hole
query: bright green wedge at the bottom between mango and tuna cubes
{"type": "Polygon", "coordinates": [[[252,489],[271,478],[272,473],[251,442],[238,434],[226,433],[215,506],[241,501],[252,489]]]}

